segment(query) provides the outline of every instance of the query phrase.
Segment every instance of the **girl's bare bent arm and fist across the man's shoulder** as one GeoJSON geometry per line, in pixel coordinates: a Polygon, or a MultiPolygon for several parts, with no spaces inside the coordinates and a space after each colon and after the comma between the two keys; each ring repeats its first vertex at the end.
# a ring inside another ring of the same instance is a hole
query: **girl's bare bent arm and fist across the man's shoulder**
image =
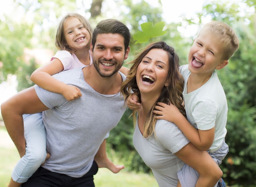
{"type": "Polygon", "coordinates": [[[63,95],[68,101],[81,97],[82,94],[77,87],[66,85],[51,76],[63,71],[63,69],[61,61],[58,58],[54,58],[49,64],[36,69],[31,74],[30,79],[45,90],[63,95]]]}

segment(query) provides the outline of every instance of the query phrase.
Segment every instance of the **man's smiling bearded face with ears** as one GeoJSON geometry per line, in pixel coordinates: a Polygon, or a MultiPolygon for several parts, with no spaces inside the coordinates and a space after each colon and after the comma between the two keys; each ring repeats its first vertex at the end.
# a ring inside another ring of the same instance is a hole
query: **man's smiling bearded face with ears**
{"type": "MultiPolygon", "coordinates": [[[[92,44],[91,44],[92,50],[92,44]]],[[[111,77],[123,66],[130,48],[124,50],[124,37],[120,34],[97,35],[93,49],[93,64],[101,77],[111,77]]]]}

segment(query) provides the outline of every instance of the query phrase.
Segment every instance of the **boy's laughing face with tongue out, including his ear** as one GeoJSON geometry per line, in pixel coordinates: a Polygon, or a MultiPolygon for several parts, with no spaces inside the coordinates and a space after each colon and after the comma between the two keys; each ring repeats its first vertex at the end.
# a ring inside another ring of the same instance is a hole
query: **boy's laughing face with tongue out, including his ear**
{"type": "Polygon", "coordinates": [[[189,51],[189,71],[210,76],[215,69],[221,69],[228,61],[222,59],[222,43],[212,34],[200,33],[189,51]]]}

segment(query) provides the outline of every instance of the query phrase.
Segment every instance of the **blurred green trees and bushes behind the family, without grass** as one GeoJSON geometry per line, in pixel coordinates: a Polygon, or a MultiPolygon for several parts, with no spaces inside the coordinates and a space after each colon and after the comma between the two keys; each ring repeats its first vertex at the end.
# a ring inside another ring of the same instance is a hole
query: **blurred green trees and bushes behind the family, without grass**
{"type": "MultiPolygon", "coordinates": [[[[115,18],[129,27],[132,36],[142,31],[140,25],[145,22],[165,21],[162,19],[161,6],[152,7],[144,0],[136,3],[132,0],[114,0],[114,2],[119,7],[119,14],[115,18]]],[[[185,64],[194,37],[184,37],[178,31],[179,27],[200,28],[203,20],[210,17],[211,20],[224,21],[235,29],[240,47],[229,60],[228,66],[218,71],[229,107],[226,142],[230,147],[220,167],[227,185],[256,186],[256,1],[242,0],[240,3],[250,7],[248,9],[250,11],[241,13],[241,6],[237,3],[210,1],[205,4],[202,12],[197,13],[197,18],[181,16],[182,21],[165,25],[163,30],[167,34],[152,38],[151,41],[164,40],[173,46],[180,57],[180,63],[185,64]]],[[[29,75],[39,67],[33,58],[29,61],[25,60],[24,48],[47,48],[55,52],[54,38],[58,22],[63,13],[77,10],[78,1],[16,0],[13,1],[13,6],[14,10],[23,7],[25,15],[29,15],[32,11],[34,21],[17,23],[9,15],[4,15],[4,19],[0,19],[0,82],[6,80],[8,74],[16,74],[19,81],[18,90],[22,90],[32,85],[29,75]],[[47,28],[45,23],[48,23],[47,28]]],[[[85,12],[89,9],[90,7],[83,7],[85,12]]],[[[90,18],[89,21],[95,27],[97,22],[104,18],[102,12],[102,15],[94,19],[90,18]]],[[[131,40],[131,52],[126,62],[131,61],[134,55],[151,41],[135,44],[135,40],[131,40]]],[[[133,121],[132,118],[128,118],[130,113],[131,111],[127,110],[117,127],[111,130],[107,139],[108,155],[110,158],[112,154],[118,156],[127,169],[150,172],[133,147],[133,121]]]]}

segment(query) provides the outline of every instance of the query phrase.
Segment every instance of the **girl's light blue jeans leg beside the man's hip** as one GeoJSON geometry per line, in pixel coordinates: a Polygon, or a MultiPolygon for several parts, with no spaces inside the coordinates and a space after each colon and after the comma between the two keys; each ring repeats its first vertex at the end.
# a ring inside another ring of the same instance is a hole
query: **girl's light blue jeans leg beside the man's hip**
{"type": "Polygon", "coordinates": [[[46,158],[46,134],[42,113],[24,114],[26,153],[12,171],[12,180],[25,183],[44,163],[46,158]]]}

